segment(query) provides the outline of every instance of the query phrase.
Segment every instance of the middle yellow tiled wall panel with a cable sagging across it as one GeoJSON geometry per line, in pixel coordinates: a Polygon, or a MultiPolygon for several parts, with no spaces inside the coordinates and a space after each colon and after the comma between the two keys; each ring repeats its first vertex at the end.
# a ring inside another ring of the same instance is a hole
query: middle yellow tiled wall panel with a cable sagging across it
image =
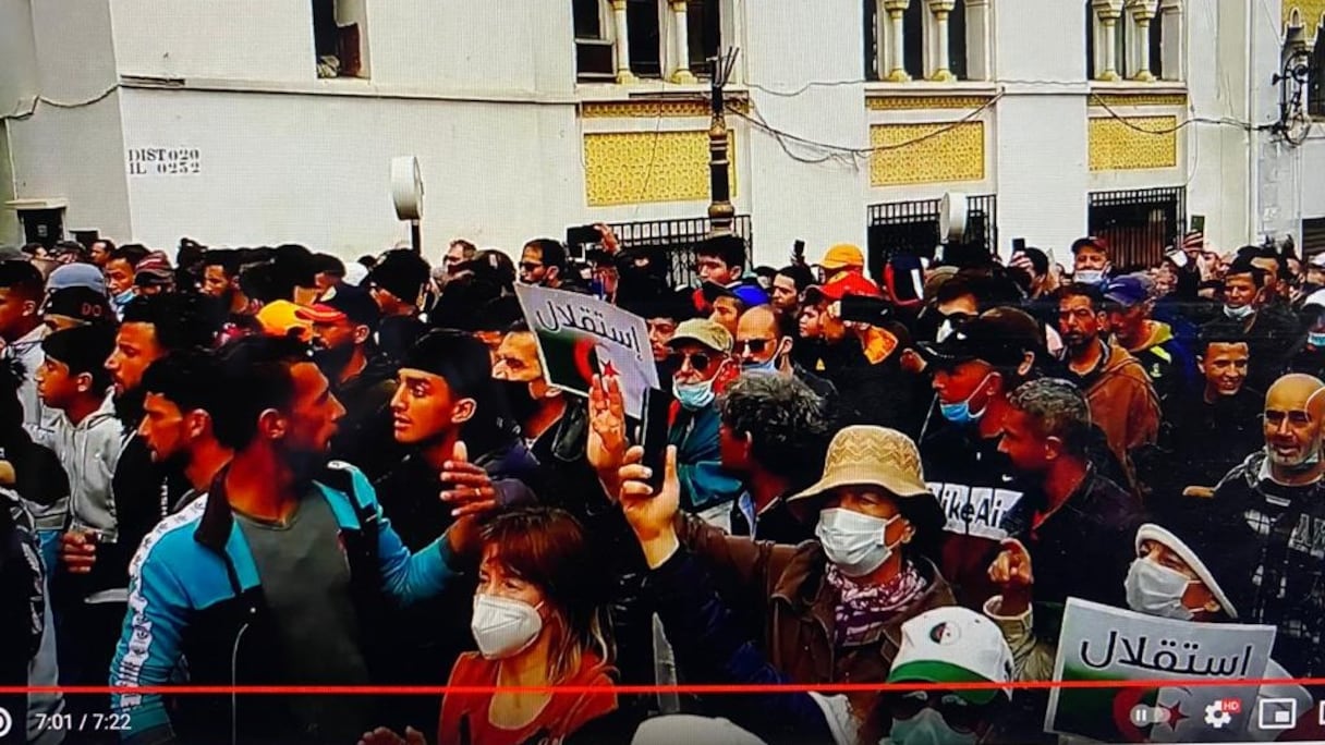
{"type": "Polygon", "coordinates": [[[869,127],[869,183],[876,187],[984,180],[984,123],[869,127]],[[935,134],[941,133],[941,134],[935,134]],[[902,143],[904,147],[890,147],[902,143]]]}

